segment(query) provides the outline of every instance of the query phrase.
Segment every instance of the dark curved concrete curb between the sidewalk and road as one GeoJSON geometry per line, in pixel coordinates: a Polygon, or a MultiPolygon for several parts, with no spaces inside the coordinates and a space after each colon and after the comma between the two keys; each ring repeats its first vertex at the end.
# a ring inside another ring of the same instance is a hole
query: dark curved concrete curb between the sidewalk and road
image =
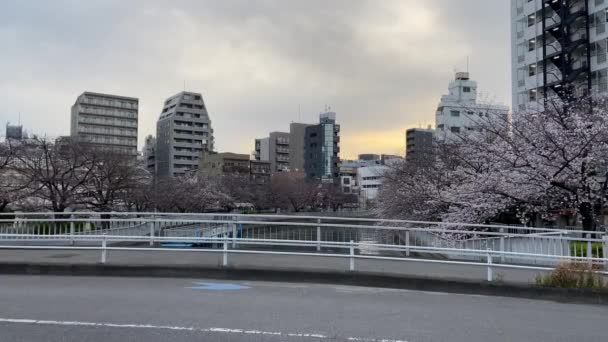
{"type": "Polygon", "coordinates": [[[274,281],[291,283],[340,284],[378,288],[448,292],[500,297],[550,300],[564,303],[608,304],[608,291],[544,288],[500,283],[480,283],[458,279],[431,279],[362,272],[290,271],[254,268],[211,268],[193,266],[93,265],[0,263],[0,274],[171,277],[217,280],[274,281]]]}

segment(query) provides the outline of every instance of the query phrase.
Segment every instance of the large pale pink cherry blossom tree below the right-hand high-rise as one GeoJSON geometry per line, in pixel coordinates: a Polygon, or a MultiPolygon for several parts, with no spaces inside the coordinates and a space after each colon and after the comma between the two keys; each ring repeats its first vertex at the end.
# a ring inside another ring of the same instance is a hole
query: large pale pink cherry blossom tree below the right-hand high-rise
{"type": "Polygon", "coordinates": [[[551,99],[542,111],[479,119],[436,141],[433,165],[389,171],[379,214],[471,223],[561,215],[593,230],[606,200],[607,105],[551,99]]]}

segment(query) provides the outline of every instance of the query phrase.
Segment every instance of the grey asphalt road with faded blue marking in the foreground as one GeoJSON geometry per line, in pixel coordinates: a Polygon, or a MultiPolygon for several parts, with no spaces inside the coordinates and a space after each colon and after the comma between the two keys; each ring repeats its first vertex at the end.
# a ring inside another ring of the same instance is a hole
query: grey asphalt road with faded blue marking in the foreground
{"type": "Polygon", "coordinates": [[[606,341],[608,307],[204,279],[0,276],[0,341],[606,341]]]}

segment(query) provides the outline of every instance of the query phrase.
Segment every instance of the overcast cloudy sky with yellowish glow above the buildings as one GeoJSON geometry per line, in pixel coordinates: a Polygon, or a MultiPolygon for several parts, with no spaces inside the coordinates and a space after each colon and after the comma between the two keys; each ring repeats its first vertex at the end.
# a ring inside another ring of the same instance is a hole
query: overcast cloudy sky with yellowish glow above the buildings
{"type": "Polygon", "coordinates": [[[342,158],[402,154],[467,56],[484,98],[510,103],[509,13],[507,0],[5,0],[0,123],[21,113],[67,135],[83,91],[133,96],[141,147],[185,81],[219,151],[249,153],[327,104],[342,158]]]}

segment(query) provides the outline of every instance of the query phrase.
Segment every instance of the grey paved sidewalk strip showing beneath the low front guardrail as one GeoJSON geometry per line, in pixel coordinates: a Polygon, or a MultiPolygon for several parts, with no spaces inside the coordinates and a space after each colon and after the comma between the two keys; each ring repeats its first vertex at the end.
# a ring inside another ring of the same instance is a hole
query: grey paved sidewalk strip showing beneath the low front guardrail
{"type": "MultiPolygon", "coordinates": [[[[163,252],[163,251],[109,251],[110,265],[200,266],[221,267],[222,253],[217,252],[163,252]]],[[[100,251],[82,250],[0,250],[0,263],[50,263],[50,264],[98,264],[100,251]]],[[[228,263],[234,268],[277,269],[297,271],[346,271],[348,258],[325,256],[293,256],[262,254],[229,254],[228,263]]],[[[463,279],[484,281],[485,266],[438,264],[418,261],[364,260],[355,261],[356,271],[430,277],[439,279],[463,279]]],[[[494,277],[506,283],[532,284],[542,273],[535,270],[495,268],[494,277]]]]}

